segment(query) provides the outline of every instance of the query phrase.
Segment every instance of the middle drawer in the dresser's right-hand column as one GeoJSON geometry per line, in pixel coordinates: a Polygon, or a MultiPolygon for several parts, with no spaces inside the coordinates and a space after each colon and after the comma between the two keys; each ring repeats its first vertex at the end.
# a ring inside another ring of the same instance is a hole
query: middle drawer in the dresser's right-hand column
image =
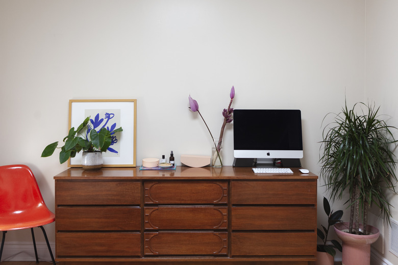
{"type": "Polygon", "coordinates": [[[233,230],[314,230],[316,208],[306,206],[232,207],[233,230]]]}

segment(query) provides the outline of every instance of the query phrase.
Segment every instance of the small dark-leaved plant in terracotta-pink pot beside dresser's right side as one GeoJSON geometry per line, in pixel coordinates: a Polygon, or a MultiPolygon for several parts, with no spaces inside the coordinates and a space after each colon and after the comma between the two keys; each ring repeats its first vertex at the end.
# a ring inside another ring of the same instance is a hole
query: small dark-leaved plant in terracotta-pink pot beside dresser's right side
{"type": "Polygon", "coordinates": [[[342,247],[337,240],[328,240],[328,235],[330,232],[330,228],[333,225],[342,222],[341,217],[343,216],[342,210],[333,211],[331,210],[329,201],[324,197],[324,210],[325,214],[328,216],[328,225],[323,226],[322,230],[317,228],[317,235],[319,239],[322,241],[322,244],[316,245],[316,257],[317,260],[315,262],[316,265],[333,265],[334,264],[334,256],[336,255],[336,249],[341,251],[342,247]]]}

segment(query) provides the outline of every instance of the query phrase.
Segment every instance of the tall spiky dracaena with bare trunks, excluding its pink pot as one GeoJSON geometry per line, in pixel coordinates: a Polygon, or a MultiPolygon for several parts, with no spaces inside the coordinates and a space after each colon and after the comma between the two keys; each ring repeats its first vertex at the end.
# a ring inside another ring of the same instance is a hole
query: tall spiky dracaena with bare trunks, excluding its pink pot
{"type": "Polygon", "coordinates": [[[385,189],[395,192],[396,157],[391,145],[397,141],[391,130],[396,127],[380,119],[379,109],[374,104],[359,102],[349,110],[345,103],[342,112],[322,133],[320,175],[333,200],[341,199],[344,191],[349,191],[350,200],[346,203],[351,206],[350,233],[367,234],[367,213],[373,203],[388,221],[391,216],[385,189]],[[357,114],[356,107],[360,107],[361,114],[357,114]]]}

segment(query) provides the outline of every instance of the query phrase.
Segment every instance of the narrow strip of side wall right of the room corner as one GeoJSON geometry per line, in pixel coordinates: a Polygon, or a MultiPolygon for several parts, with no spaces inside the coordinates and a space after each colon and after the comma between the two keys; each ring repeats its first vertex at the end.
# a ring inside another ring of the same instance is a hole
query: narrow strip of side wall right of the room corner
{"type": "MultiPolygon", "coordinates": [[[[398,2],[366,1],[366,98],[381,105],[381,113],[388,114],[390,125],[398,124],[398,2]]],[[[398,134],[395,131],[395,136],[398,134]]],[[[398,137],[397,137],[398,138],[398,137]]],[[[398,152],[395,151],[395,155],[398,152]]],[[[390,193],[391,214],[398,220],[398,196],[390,193]]],[[[390,227],[385,222],[384,249],[378,254],[382,260],[398,264],[398,257],[388,251],[390,227]],[[383,253],[384,252],[384,253],[383,253]]]]}

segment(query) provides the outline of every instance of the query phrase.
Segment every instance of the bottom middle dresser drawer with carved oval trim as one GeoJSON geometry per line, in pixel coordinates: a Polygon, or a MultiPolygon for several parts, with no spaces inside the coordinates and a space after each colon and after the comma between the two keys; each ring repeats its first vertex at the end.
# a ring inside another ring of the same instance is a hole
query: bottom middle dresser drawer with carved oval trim
{"type": "Polygon", "coordinates": [[[145,255],[227,255],[227,232],[145,233],[145,255]]]}

